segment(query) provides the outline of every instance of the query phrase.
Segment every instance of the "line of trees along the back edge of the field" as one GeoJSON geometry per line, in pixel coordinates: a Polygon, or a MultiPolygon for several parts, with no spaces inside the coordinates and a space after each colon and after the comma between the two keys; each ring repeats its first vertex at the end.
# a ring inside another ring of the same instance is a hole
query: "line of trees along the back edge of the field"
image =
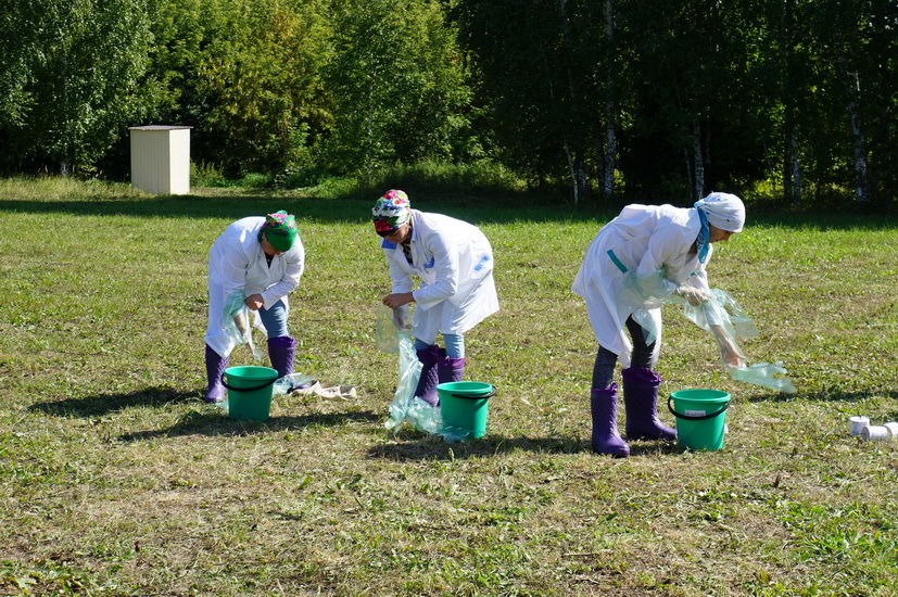
{"type": "Polygon", "coordinates": [[[894,203],[891,0],[3,0],[0,170],[127,177],[128,126],[293,186],[490,161],[574,201],[894,203]]]}

